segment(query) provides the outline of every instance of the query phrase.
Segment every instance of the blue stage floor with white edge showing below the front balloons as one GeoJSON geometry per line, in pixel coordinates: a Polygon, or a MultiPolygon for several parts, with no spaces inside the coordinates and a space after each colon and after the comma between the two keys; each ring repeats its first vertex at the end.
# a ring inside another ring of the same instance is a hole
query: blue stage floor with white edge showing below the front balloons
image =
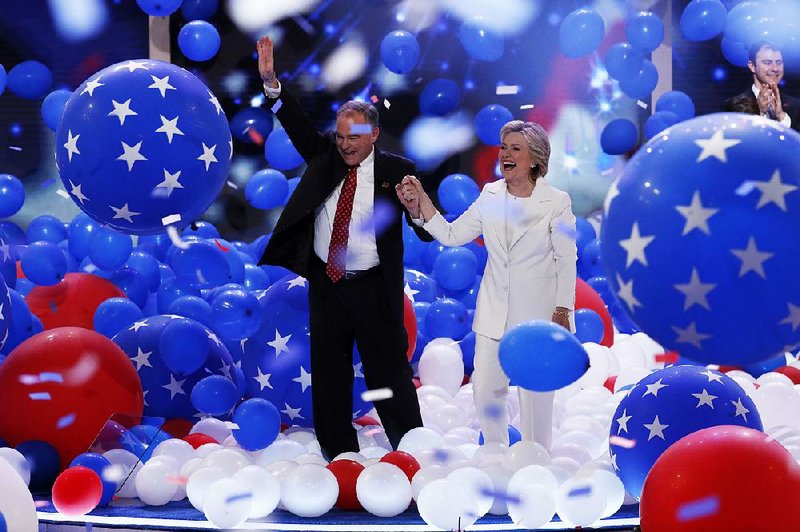
{"type": "MultiPolygon", "coordinates": [[[[188,501],[170,503],[166,506],[143,506],[136,504],[136,500],[126,504],[114,504],[100,508],[92,513],[76,518],[59,514],[48,501],[38,503],[39,530],[47,532],[77,532],[78,530],[91,530],[93,532],[105,530],[219,530],[205,520],[204,516],[195,510],[188,501]],[[131,504],[133,502],[133,504],[131,504]]],[[[623,506],[613,516],[595,524],[591,529],[584,530],[631,530],[639,524],[638,505],[623,506]]],[[[375,517],[367,512],[347,512],[332,510],[316,518],[306,519],[297,517],[289,512],[276,510],[269,518],[259,521],[247,521],[237,530],[268,530],[268,531],[352,531],[352,532],[414,532],[422,530],[436,530],[428,526],[420,518],[419,513],[412,506],[411,509],[392,518],[375,517]]],[[[469,527],[469,530],[494,531],[494,530],[527,530],[518,528],[508,516],[487,515],[469,527]]],[[[561,521],[552,521],[538,530],[574,530],[564,525],[561,521]]]]}

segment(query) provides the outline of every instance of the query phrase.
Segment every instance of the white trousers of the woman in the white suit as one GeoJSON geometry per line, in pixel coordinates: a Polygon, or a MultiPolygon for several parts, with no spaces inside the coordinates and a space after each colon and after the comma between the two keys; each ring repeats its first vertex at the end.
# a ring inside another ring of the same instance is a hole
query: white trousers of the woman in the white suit
{"type": "MultiPolygon", "coordinates": [[[[508,445],[509,380],[500,365],[499,340],[475,335],[475,370],[472,391],[484,442],[508,445]]],[[[520,432],[523,440],[540,443],[548,451],[553,438],[555,392],[532,392],[518,387],[520,432]]]]}

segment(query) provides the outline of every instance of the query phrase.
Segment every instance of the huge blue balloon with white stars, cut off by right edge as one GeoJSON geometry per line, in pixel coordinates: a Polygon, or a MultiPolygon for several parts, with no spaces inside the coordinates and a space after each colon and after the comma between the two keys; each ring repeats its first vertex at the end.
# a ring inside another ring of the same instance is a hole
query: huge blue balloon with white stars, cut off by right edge
{"type": "Polygon", "coordinates": [[[649,336],[706,364],[800,344],[800,134],[758,116],[676,124],[606,198],[608,281],[649,336]]]}

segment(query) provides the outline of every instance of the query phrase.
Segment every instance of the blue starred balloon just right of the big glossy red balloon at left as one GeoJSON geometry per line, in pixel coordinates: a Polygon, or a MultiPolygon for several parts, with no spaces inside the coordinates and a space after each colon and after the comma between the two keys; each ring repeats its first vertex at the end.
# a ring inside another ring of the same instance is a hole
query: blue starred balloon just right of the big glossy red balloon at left
{"type": "Polygon", "coordinates": [[[208,356],[202,367],[188,375],[172,373],[161,359],[159,349],[161,332],[172,320],[189,318],[174,315],[144,318],[117,333],[113,340],[136,366],[142,381],[146,416],[196,421],[204,416],[198,413],[190,401],[194,385],[209,375],[222,375],[237,383],[240,373],[236,371],[234,361],[222,340],[205,327],[203,328],[208,334],[208,356]]]}

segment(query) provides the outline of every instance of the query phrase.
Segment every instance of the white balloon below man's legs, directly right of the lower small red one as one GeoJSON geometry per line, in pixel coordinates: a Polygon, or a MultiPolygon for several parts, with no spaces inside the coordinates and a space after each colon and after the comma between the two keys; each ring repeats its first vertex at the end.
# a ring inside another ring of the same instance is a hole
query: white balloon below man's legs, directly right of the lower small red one
{"type": "Polygon", "coordinates": [[[411,503],[411,484],[402,469],[378,462],[365,468],[356,479],[356,496],[366,511],[378,517],[393,517],[411,503]]]}

